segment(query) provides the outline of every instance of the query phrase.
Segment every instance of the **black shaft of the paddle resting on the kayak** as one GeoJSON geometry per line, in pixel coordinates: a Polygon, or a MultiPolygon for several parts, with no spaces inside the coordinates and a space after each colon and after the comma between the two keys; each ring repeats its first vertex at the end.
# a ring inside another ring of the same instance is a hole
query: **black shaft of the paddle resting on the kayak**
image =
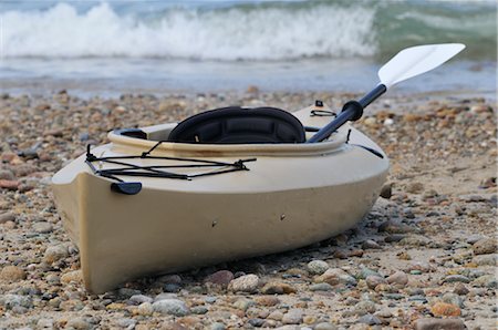
{"type": "Polygon", "coordinates": [[[329,124],[317,132],[307,143],[322,142],[328,138],[339,127],[344,125],[347,121],[357,121],[363,115],[363,109],[374,102],[378,96],[384,94],[387,87],[384,84],[378,84],[369,94],[363,96],[360,101],[350,101],[342,107],[341,113],[329,124]]]}

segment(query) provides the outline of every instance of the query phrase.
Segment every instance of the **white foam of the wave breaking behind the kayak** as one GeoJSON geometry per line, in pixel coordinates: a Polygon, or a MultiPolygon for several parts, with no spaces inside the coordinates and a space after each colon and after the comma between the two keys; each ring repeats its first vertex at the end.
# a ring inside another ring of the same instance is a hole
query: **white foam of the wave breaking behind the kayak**
{"type": "Polygon", "coordinates": [[[4,58],[184,58],[281,60],[370,56],[375,9],[313,6],[300,9],[172,9],[155,19],[118,16],[101,3],[79,13],[68,3],[41,12],[8,11],[4,58]]]}

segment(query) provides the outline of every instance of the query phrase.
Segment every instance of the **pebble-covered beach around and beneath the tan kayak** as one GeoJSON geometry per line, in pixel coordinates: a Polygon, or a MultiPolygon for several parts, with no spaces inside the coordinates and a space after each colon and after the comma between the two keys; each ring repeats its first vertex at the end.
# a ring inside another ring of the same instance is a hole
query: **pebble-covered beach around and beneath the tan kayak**
{"type": "Polygon", "coordinates": [[[391,172],[373,210],[346,233],[85,291],[50,182],[87,144],[227,105],[340,109],[356,96],[256,86],[0,95],[0,329],[496,329],[497,107],[458,93],[386,95],[354,124],[385,151],[391,172]]]}

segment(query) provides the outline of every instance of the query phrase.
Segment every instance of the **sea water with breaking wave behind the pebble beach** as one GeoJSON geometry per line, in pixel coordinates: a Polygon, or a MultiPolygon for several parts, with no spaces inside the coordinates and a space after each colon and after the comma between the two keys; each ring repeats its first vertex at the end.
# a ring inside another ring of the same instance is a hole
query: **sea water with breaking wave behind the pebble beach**
{"type": "Polygon", "coordinates": [[[0,1],[3,92],[369,91],[403,48],[464,53],[400,91],[494,94],[495,1],[0,1]]]}

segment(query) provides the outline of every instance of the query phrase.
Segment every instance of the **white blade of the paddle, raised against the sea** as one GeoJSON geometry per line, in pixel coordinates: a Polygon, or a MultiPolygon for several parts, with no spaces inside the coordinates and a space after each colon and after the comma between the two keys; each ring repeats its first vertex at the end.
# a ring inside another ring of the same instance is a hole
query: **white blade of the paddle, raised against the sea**
{"type": "Polygon", "coordinates": [[[378,70],[387,89],[412,76],[430,71],[465,49],[461,43],[416,45],[402,50],[378,70]]]}

